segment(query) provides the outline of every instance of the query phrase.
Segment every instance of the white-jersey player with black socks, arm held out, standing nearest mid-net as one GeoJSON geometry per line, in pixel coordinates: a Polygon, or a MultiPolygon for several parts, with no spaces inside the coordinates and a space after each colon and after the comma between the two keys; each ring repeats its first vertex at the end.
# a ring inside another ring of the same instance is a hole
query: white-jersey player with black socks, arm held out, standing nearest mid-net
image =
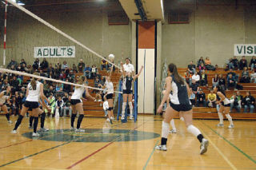
{"type": "MultiPolygon", "coordinates": [[[[81,76],[78,79],[78,85],[86,85],[86,77],[85,76],[81,76]]],[[[92,99],[93,101],[95,100],[94,97],[90,96],[90,93],[88,92],[88,89],[86,87],[80,87],[80,86],[76,86],[74,89],[74,93],[72,94],[71,97],[71,108],[72,108],[72,115],[71,115],[71,130],[74,130],[74,120],[75,117],[77,116],[77,112],[79,113],[79,117],[78,117],[78,124],[77,124],[77,128],[75,129],[75,132],[85,132],[84,129],[80,128],[80,125],[82,123],[82,119],[84,117],[84,113],[83,113],[83,103],[82,103],[82,94],[86,92],[86,97],[90,97],[90,99],[92,99]]]]}

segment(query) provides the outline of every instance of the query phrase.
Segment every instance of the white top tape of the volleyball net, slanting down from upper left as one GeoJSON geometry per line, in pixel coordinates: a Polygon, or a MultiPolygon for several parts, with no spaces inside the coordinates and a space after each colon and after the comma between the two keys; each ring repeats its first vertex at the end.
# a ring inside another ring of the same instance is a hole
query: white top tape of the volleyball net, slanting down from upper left
{"type": "Polygon", "coordinates": [[[42,24],[50,27],[52,30],[56,31],[58,34],[62,34],[62,36],[70,39],[70,41],[75,42],[76,44],[82,46],[82,48],[90,51],[90,53],[94,53],[94,55],[102,58],[105,61],[108,61],[109,63],[111,63],[111,65],[116,66],[118,69],[121,69],[118,65],[115,65],[113,62],[111,62],[110,60],[107,60],[105,57],[102,57],[102,55],[94,52],[94,50],[88,48],[86,45],[83,45],[81,42],[78,42],[76,39],[70,37],[70,35],[64,33],[62,30],[58,30],[58,28],[56,28],[55,26],[52,26],[49,22],[46,22],[45,20],[43,20],[42,18],[39,18],[37,15],[33,14],[30,12],[30,10],[26,10],[26,8],[19,6],[16,2],[13,2],[12,0],[6,0],[6,2],[9,2],[10,4],[12,4],[13,6],[16,6],[19,10],[22,10],[23,12],[25,12],[26,14],[30,15],[32,18],[35,18],[36,20],[38,20],[38,22],[42,22],[42,24]]]}

